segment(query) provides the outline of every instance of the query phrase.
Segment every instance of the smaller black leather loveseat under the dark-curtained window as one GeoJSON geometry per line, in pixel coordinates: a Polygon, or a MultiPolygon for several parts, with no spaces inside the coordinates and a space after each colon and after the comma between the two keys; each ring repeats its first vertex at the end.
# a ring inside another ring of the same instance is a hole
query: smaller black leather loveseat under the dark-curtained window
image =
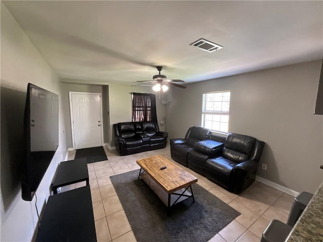
{"type": "Polygon", "coordinates": [[[166,147],[168,133],[159,131],[152,121],[125,122],[113,125],[116,149],[120,155],[130,155],[166,147]]]}

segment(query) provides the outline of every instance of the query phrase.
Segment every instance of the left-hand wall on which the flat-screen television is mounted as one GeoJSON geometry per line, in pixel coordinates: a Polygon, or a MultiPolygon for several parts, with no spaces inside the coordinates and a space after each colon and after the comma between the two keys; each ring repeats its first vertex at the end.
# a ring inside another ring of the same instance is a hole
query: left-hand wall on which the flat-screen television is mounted
{"type": "Polygon", "coordinates": [[[41,212],[56,168],[66,157],[61,85],[25,32],[1,2],[1,241],[30,241],[37,226],[35,197],[21,198],[23,117],[28,82],[59,94],[59,147],[36,191],[41,212]]]}

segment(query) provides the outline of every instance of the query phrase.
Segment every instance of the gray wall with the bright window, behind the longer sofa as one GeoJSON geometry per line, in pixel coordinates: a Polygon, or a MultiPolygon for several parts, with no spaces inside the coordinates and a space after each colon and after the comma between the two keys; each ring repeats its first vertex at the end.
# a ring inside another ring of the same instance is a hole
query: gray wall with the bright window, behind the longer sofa
{"type": "Polygon", "coordinates": [[[172,89],[170,138],[201,125],[202,94],[231,91],[229,132],[266,143],[258,175],[297,192],[315,192],[323,180],[323,116],[314,115],[321,61],[188,84],[172,89]]]}

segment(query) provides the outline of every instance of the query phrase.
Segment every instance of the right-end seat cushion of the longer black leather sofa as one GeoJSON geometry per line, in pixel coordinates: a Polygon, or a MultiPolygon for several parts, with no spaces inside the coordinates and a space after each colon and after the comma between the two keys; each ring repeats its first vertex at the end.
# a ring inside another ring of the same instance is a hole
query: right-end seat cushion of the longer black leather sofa
{"type": "Polygon", "coordinates": [[[217,158],[207,159],[205,162],[205,168],[221,174],[222,176],[229,177],[232,169],[237,164],[238,162],[219,156],[217,158]]]}

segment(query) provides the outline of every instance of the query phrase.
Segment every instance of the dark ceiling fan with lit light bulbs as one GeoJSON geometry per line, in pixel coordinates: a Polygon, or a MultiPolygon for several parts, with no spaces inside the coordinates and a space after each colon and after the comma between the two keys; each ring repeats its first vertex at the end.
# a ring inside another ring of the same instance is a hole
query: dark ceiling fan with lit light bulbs
{"type": "MultiPolygon", "coordinates": [[[[156,83],[153,87],[152,90],[154,90],[155,92],[160,91],[160,88],[163,89],[163,91],[167,91],[168,90],[168,85],[170,86],[175,86],[175,87],[180,87],[180,88],[186,88],[186,86],[183,85],[179,85],[175,82],[184,82],[183,80],[179,80],[179,79],[167,79],[167,77],[165,75],[161,75],[160,71],[163,70],[163,67],[157,66],[156,67],[157,71],[159,71],[158,75],[154,75],[152,77],[153,80],[150,81],[137,81],[137,82],[143,82],[142,84],[145,83],[156,83]]],[[[142,85],[142,84],[138,84],[138,85],[142,85]]],[[[134,86],[138,86],[138,85],[134,85],[134,86]]]]}

